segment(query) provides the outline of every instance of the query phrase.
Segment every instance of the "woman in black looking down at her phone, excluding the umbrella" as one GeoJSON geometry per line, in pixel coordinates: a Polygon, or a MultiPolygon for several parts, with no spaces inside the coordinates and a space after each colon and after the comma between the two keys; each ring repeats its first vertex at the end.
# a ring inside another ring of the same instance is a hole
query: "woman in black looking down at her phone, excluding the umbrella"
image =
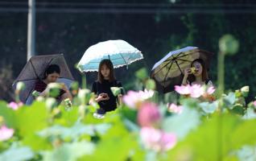
{"type": "Polygon", "coordinates": [[[92,92],[96,94],[95,101],[100,105],[95,118],[103,118],[104,114],[117,108],[121,95],[114,97],[111,87],[122,87],[121,82],[114,77],[114,66],[110,60],[101,60],[98,68],[97,81],[93,82],[92,92]]]}

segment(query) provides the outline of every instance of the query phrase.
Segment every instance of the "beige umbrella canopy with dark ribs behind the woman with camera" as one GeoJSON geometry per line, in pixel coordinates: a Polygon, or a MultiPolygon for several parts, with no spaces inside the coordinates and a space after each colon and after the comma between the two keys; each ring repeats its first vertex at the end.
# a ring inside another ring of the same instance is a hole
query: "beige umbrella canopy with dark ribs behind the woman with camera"
{"type": "Polygon", "coordinates": [[[204,60],[206,68],[213,53],[206,52],[198,47],[184,47],[169,52],[151,69],[151,77],[156,82],[157,90],[163,93],[171,92],[175,85],[180,85],[184,76],[184,69],[191,66],[193,60],[204,60]]]}

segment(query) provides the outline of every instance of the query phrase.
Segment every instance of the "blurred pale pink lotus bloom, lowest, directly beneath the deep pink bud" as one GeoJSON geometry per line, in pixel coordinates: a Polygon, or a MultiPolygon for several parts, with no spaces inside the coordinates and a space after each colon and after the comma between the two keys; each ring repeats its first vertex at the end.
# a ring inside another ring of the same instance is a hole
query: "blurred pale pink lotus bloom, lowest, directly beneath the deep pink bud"
{"type": "Polygon", "coordinates": [[[163,130],[157,130],[151,127],[143,127],[140,131],[142,143],[148,149],[154,151],[168,151],[175,146],[175,134],[165,133],[163,130]]]}

